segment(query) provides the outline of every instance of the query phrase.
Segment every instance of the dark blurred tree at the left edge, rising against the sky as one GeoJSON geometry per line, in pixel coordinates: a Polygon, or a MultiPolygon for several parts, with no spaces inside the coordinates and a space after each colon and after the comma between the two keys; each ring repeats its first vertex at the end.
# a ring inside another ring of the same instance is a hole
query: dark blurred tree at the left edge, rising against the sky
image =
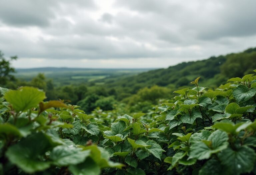
{"type": "Polygon", "coordinates": [[[11,67],[10,62],[16,60],[18,57],[10,57],[9,60],[4,58],[4,54],[0,51],[0,85],[5,86],[8,81],[14,81],[15,77],[11,73],[15,72],[15,69],[11,67]]]}

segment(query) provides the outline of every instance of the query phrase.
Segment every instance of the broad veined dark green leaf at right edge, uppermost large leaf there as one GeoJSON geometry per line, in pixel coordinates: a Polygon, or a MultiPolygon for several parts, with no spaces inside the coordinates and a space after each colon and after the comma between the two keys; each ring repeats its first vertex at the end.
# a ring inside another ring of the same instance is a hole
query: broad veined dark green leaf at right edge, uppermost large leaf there
{"type": "Polygon", "coordinates": [[[248,89],[247,86],[239,85],[233,90],[233,96],[238,103],[245,102],[256,94],[256,88],[248,89]]]}

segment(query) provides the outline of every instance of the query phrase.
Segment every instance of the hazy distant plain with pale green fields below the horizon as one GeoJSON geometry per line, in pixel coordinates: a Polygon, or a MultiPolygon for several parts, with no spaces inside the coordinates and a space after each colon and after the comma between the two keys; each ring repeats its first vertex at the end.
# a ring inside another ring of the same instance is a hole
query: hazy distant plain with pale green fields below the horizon
{"type": "MultiPolygon", "coordinates": [[[[104,78],[130,76],[152,69],[87,69],[87,68],[33,68],[16,69],[14,74],[18,79],[31,81],[37,74],[43,73],[47,79],[52,79],[54,85],[69,85],[93,82],[104,78]]],[[[104,82],[97,81],[97,84],[104,82]]]]}

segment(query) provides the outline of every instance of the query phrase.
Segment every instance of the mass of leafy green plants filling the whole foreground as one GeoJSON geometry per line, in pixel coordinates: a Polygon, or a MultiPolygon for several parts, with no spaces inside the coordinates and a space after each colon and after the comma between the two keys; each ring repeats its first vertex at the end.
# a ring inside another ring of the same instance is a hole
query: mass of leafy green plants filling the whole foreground
{"type": "Polygon", "coordinates": [[[256,174],[256,76],[215,90],[199,78],[155,111],[115,118],[0,88],[0,174],[256,174]]]}

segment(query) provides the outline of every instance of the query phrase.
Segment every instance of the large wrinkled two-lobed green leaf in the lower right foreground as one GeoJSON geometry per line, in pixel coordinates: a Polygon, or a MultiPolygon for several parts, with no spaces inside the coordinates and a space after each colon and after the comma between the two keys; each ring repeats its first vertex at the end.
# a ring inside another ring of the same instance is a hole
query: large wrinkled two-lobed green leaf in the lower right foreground
{"type": "Polygon", "coordinates": [[[208,159],[214,153],[220,152],[229,145],[228,135],[226,132],[214,131],[207,139],[210,146],[206,142],[193,142],[190,147],[189,159],[197,158],[198,160],[208,159]]]}

